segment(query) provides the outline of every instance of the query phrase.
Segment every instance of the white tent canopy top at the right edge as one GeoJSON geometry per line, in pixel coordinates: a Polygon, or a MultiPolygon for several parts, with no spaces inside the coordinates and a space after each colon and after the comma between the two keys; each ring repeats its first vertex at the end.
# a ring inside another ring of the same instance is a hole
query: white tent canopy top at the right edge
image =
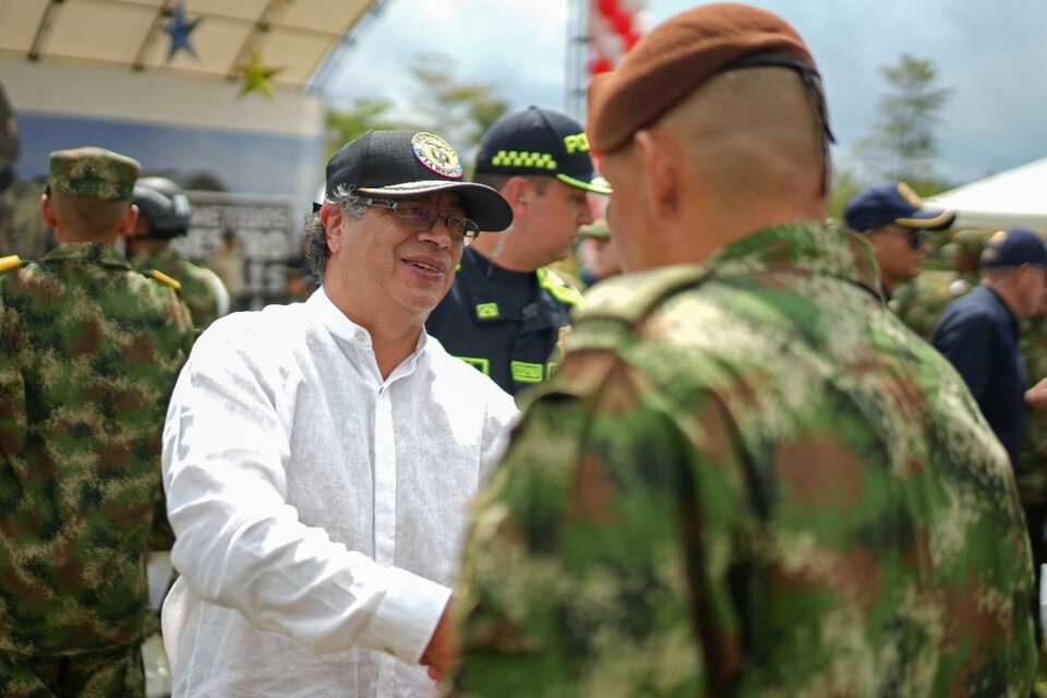
{"type": "Polygon", "coordinates": [[[930,196],[956,212],[955,227],[1025,226],[1047,233],[1047,157],[930,196]]]}

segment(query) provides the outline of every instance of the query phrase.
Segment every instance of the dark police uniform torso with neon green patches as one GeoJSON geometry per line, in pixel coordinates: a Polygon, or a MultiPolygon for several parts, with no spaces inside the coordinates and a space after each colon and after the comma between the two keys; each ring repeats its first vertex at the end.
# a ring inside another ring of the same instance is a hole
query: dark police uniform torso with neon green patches
{"type": "Polygon", "coordinates": [[[541,383],[581,293],[547,268],[513,272],[466,248],[455,282],[425,330],[506,393],[541,383]]]}

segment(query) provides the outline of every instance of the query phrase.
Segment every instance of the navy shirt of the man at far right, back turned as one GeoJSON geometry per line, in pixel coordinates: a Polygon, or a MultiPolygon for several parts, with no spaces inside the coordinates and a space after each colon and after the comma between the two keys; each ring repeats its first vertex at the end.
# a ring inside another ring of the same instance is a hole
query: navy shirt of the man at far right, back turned
{"type": "Polygon", "coordinates": [[[1019,318],[990,288],[978,286],[946,309],[931,344],[960,372],[1016,467],[1025,434],[1025,363],[1019,318]]]}

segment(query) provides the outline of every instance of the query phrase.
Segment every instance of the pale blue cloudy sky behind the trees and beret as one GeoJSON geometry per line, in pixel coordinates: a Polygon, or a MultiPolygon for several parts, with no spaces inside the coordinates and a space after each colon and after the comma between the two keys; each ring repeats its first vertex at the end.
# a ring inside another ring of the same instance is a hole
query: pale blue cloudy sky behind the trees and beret
{"type": "MultiPolygon", "coordinates": [[[[454,57],[459,80],[494,85],[512,108],[571,111],[568,4],[576,0],[385,0],[322,75],[328,101],[386,97],[410,108],[408,67],[454,57]]],[[[646,0],[661,23],[694,0],[646,0]]],[[[938,172],[958,184],[1047,157],[1045,0],[756,0],[807,41],[828,92],[834,159],[857,168],[889,85],[880,68],[902,53],[930,59],[951,89],[939,110],[938,172]]],[[[581,117],[582,115],[577,115],[581,117]]],[[[859,170],[861,174],[861,170],[859,170]]],[[[1045,193],[1047,195],[1047,193],[1045,193]]]]}

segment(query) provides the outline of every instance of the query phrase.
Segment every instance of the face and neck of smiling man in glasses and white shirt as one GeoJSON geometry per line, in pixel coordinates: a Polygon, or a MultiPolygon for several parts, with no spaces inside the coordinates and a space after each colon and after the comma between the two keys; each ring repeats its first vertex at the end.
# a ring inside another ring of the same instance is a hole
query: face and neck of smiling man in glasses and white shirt
{"type": "MultiPolygon", "coordinates": [[[[457,194],[417,201],[444,214],[466,214],[457,194]]],[[[332,220],[325,287],[338,296],[335,303],[357,316],[424,322],[450,288],[461,260],[461,238],[448,232],[445,219],[424,230],[389,209],[368,208],[360,219],[339,214],[332,220]]]]}

